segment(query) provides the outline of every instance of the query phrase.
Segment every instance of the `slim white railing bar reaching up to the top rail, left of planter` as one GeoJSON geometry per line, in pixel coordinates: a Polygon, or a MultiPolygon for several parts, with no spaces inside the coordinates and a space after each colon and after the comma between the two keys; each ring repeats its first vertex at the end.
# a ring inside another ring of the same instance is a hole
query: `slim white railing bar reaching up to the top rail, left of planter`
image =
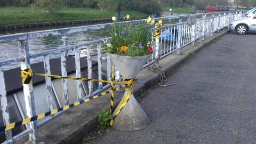
{"type": "MultiPolygon", "coordinates": [[[[67,36],[63,36],[61,38],[63,42],[63,46],[67,47],[68,46],[68,40],[69,38],[67,36]]],[[[66,56],[67,56],[67,51],[61,51],[61,75],[64,77],[67,77],[67,63],[66,63],[66,56]]],[[[68,81],[67,79],[62,79],[62,86],[63,86],[63,99],[64,99],[64,106],[67,106],[69,104],[68,100],[68,81]]]]}

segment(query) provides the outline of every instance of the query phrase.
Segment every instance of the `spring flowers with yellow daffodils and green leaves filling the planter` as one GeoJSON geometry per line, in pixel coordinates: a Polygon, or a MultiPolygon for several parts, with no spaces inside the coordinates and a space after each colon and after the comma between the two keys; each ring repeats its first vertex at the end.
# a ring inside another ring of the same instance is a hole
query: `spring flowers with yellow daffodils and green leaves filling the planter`
{"type": "Polygon", "coordinates": [[[121,56],[144,56],[152,54],[152,26],[155,24],[155,38],[159,37],[159,28],[162,21],[155,22],[154,19],[148,19],[146,22],[132,23],[129,15],[125,16],[122,22],[118,22],[112,17],[113,26],[110,28],[111,40],[104,41],[104,49],[111,54],[121,56]],[[157,37],[158,36],[158,37],[157,37]]]}

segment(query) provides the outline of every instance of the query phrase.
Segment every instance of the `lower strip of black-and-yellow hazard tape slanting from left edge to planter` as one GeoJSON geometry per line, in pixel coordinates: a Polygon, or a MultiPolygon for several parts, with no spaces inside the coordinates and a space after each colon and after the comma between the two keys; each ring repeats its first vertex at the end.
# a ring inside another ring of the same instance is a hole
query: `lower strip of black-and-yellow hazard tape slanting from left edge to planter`
{"type": "Polygon", "coordinates": [[[8,130],[13,129],[15,127],[19,127],[20,125],[28,124],[29,122],[39,120],[39,119],[44,118],[44,117],[49,116],[49,115],[54,115],[55,113],[58,113],[60,111],[64,111],[64,110],[73,108],[75,106],[79,106],[80,104],[83,104],[84,102],[88,102],[90,100],[97,99],[98,97],[106,95],[107,93],[113,92],[115,90],[120,90],[120,88],[124,88],[125,86],[127,86],[127,85],[120,86],[118,88],[114,88],[113,90],[109,90],[108,92],[100,93],[99,95],[95,95],[95,96],[90,97],[88,99],[79,100],[79,101],[75,102],[74,104],[64,106],[63,108],[53,109],[52,111],[49,111],[47,113],[42,113],[40,115],[36,115],[36,116],[31,117],[31,118],[26,118],[24,120],[20,120],[19,122],[13,122],[12,124],[4,125],[3,127],[0,127],[0,132],[8,131],[8,130]]]}

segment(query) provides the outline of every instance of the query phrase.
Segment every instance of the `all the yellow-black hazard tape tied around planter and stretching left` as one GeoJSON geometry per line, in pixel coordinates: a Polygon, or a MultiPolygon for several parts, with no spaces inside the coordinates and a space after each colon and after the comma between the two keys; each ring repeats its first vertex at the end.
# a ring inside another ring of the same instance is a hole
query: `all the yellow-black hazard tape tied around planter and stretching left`
{"type": "MultiPolygon", "coordinates": [[[[113,65],[113,68],[114,65],[113,65]]],[[[113,69],[114,71],[114,69],[113,69]]],[[[102,83],[111,83],[111,90],[109,90],[108,92],[104,92],[101,93],[99,95],[95,95],[93,97],[91,97],[90,99],[84,99],[78,102],[75,102],[74,104],[70,104],[68,106],[64,106],[63,108],[59,108],[59,109],[54,109],[52,111],[49,111],[47,113],[42,113],[40,115],[37,116],[33,116],[31,118],[26,118],[25,120],[21,120],[20,122],[15,122],[9,125],[5,125],[3,127],[0,127],[0,132],[2,131],[8,131],[10,129],[13,129],[14,127],[18,127],[20,125],[24,125],[24,124],[28,124],[29,122],[33,122],[35,120],[39,120],[40,118],[44,118],[45,116],[49,116],[49,115],[53,115],[54,113],[58,113],[60,111],[72,108],[74,106],[78,106],[79,104],[82,104],[83,102],[88,102],[89,100],[92,99],[96,99],[97,97],[100,97],[102,95],[106,95],[107,93],[111,93],[111,100],[110,100],[110,113],[113,113],[113,100],[114,100],[114,91],[115,90],[120,90],[120,88],[126,87],[125,90],[131,90],[129,93],[127,93],[127,95],[125,96],[125,99],[123,100],[122,104],[120,105],[120,107],[118,108],[118,110],[116,111],[115,115],[113,116],[113,119],[110,121],[110,125],[113,124],[113,120],[116,118],[116,116],[120,113],[120,111],[122,111],[122,109],[124,108],[125,104],[127,104],[127,102],[129,101],[129,99],[131,98],[132,95],[132,90],[133,90],[133,86],[132,83],[134,83],[135,79],[124,79],[121,82],[115,82],[115,81],[105,81],[102,79],[88,79],[88,78],[79,78],[79,77],[64,77],[64,76],[58,76],[58,75],[52,75],[52,74],[35,74],[33,73],[33,70],[31,68],[28,68],[26,70],[22,70],[21,71],[21,77],[22,77],[22,83],[24,84],[32,84],[32,76],[44,76],[44,77],[54,77],[56,79],[73,79],[73,80],[80,80],[80,81],[101,81],[102,83]],[[124,86],[120,86],[119,88],[113,88],[114,84],[124,84],[124,86]],[[130,86],[131,87],[127,87],[130,86]]],[[[112,74],[112,77],[113,74],[112,74]]]]}

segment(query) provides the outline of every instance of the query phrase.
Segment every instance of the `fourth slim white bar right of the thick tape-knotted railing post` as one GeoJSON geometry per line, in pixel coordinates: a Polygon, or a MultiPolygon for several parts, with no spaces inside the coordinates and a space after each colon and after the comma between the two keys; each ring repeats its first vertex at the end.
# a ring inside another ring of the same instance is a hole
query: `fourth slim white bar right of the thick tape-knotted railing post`
{"type": "MultiPolygon", "coordinates": [[[[87,68],[88,68],[88,79],[92,79],[92,56],[91,56],[92,45],[87,47],[87,68]]],[[[93,93],[93,84],[92,81],[88,81],[89,95],[93,93]]]]}

